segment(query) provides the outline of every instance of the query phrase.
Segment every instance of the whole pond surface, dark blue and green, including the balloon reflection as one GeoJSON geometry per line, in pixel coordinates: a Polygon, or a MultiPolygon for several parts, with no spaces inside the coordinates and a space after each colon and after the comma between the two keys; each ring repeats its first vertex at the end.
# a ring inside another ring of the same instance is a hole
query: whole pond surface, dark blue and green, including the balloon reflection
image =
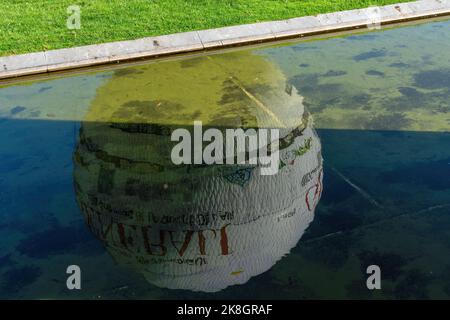
{"type": "Polygon", "coordinates": [[[441,20],[0,85],[0,298],[449,298],[449,52],[441,20]],[[278,172],[175,165],[194,121],[279,129],[278,172]]]}

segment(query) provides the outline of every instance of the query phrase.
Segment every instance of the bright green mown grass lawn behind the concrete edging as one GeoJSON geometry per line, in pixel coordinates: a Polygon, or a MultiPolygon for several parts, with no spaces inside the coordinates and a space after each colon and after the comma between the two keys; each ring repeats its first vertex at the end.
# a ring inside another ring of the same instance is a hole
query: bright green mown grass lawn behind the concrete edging
{"type": "Polygon", "coordinates": [[[1,0],[0,55],[386,5],[402,0],[1,0]],[[81,29],[69,30],[69,5],[81,29]]]}

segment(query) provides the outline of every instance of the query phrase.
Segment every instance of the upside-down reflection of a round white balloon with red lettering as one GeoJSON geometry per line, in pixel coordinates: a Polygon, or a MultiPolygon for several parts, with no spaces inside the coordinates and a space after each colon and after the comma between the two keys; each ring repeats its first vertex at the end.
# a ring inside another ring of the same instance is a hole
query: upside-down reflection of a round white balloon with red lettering
{"type": "Polygon", "coordinates": [[[119,263],[168,288],[218,291],[268,270],[298,242],[321,193],[320,141],[302,97],[248,53],[117,72],[98,90],[74,162],[90,229],[119,263]],[[279,128],[278,174],[175,166],[170,133],[194,120],[279,128]]]}

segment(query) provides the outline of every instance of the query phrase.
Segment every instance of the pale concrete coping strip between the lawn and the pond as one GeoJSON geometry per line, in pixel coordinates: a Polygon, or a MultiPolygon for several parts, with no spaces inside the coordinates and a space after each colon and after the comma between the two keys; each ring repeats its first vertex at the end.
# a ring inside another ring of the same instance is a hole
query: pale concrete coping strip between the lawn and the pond
{"type": "Polygon", "coordinates": [[[450,15],[450,0],[420,0],[317,16],[0,57],[0,79],[450,15]]]}

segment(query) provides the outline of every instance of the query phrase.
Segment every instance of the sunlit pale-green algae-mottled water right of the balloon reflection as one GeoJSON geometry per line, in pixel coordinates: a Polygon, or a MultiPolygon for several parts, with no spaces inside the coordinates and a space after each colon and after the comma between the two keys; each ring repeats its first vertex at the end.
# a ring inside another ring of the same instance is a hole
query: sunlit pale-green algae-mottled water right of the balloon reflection
{"type": "Polygon", "coordinates": [[[448,22],[436,22],[259,53],[280,65],[318,128],[442,132],[450,129],[447,38],[448,22]],[[337,69],[346,74],[327,76],[337,69]]]}

